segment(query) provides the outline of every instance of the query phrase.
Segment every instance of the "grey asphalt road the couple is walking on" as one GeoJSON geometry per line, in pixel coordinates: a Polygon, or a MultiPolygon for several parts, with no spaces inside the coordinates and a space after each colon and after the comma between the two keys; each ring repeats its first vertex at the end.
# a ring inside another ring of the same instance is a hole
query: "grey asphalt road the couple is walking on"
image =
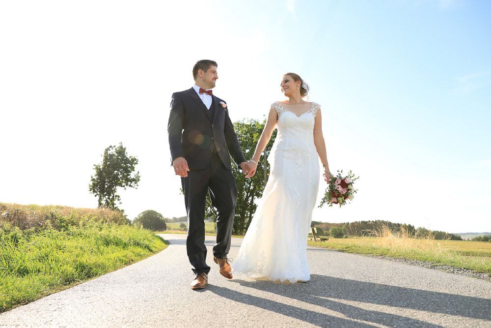
{"type": "MultiPolygon", "coordinates": [[[[186,235],[164,251],[0,314],[0,327],[491,327],[491,282],[309,248],[311,281],[227,280],[193,291],[186,235]]],[[[234,258],[242,239],[233,239],[234,258]]]]}

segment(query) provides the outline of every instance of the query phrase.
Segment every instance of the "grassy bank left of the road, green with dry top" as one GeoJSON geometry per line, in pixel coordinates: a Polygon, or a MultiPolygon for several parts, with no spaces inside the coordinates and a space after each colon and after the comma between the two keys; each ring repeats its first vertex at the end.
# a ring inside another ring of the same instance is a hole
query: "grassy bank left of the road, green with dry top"
{"type": "Polygon", "coordinates": [[[125,218],[107,209],[0,203],[0,210],[0,312],[141,261],[168,245],[149,230],[122,224],[125,218]]]}

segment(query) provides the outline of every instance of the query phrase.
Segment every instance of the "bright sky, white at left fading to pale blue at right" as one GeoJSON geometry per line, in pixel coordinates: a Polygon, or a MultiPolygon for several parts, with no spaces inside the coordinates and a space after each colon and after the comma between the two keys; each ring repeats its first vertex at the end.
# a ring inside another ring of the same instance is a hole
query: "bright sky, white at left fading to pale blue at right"
{"type": "Polygon", "coordinates": [[[129,218],[186,215],[170,97],[213,59],[232,120],[283,100],[285,72],[310,84],[331,172],[360,176],[352,204],[314,220],[491,231],[490,12],[486,0],[2,1],[0,201],[95,208],[93,164],[122,142],[141,175],[119,193],[129,218]]]}

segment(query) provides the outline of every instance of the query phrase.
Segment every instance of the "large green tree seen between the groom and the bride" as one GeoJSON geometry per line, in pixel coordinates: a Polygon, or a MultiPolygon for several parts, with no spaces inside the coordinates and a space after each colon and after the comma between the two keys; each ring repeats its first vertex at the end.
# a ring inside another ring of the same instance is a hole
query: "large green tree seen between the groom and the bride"
{"type": "MultiPolygon", "coordinates": [[[[245,119],[234,123],[234,129],[239,139],[242,151],[246,158],[251,158],[256,149],[257,142],[261,137],[266,119],[262,122],[255,119],[245,119]]],[[[276,138],[277,131],[274,130],[270,141],[266,145],[266,157],[269,156],[271,148],[273,147],[274,139],[276,138]]],[[[235,207],[235,219],[233,234],[244,235],[249,228],[252,220],[252,215],[256,211],[257,205],[254,201],[263,195],[265,186],[264,182],[264,170],[269,170],[269,164],[265,161],[264,155],[259,161],[256,174],[252,178],[244,176],[242,169],[236,165],[232,165],[232,173],[235,176],[235,183],[237,184],[237,206],[235,207]]]]}

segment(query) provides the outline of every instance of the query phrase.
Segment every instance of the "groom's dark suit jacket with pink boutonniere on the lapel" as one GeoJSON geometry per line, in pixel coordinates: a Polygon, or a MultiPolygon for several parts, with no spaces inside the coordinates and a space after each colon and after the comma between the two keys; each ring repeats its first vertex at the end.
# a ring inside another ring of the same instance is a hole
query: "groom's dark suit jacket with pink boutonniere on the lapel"
{"type": "Polygon", "coordinates": [[[208,110],[193,88],[172,94],[167,125],[171,163],[182,156],[190,170],[201,170],[210,165],[214,151],[229,170],[230,156],[238,166],[246,162],[228,107],[223,108],[217,96],[212,98],[208,110]]]}

